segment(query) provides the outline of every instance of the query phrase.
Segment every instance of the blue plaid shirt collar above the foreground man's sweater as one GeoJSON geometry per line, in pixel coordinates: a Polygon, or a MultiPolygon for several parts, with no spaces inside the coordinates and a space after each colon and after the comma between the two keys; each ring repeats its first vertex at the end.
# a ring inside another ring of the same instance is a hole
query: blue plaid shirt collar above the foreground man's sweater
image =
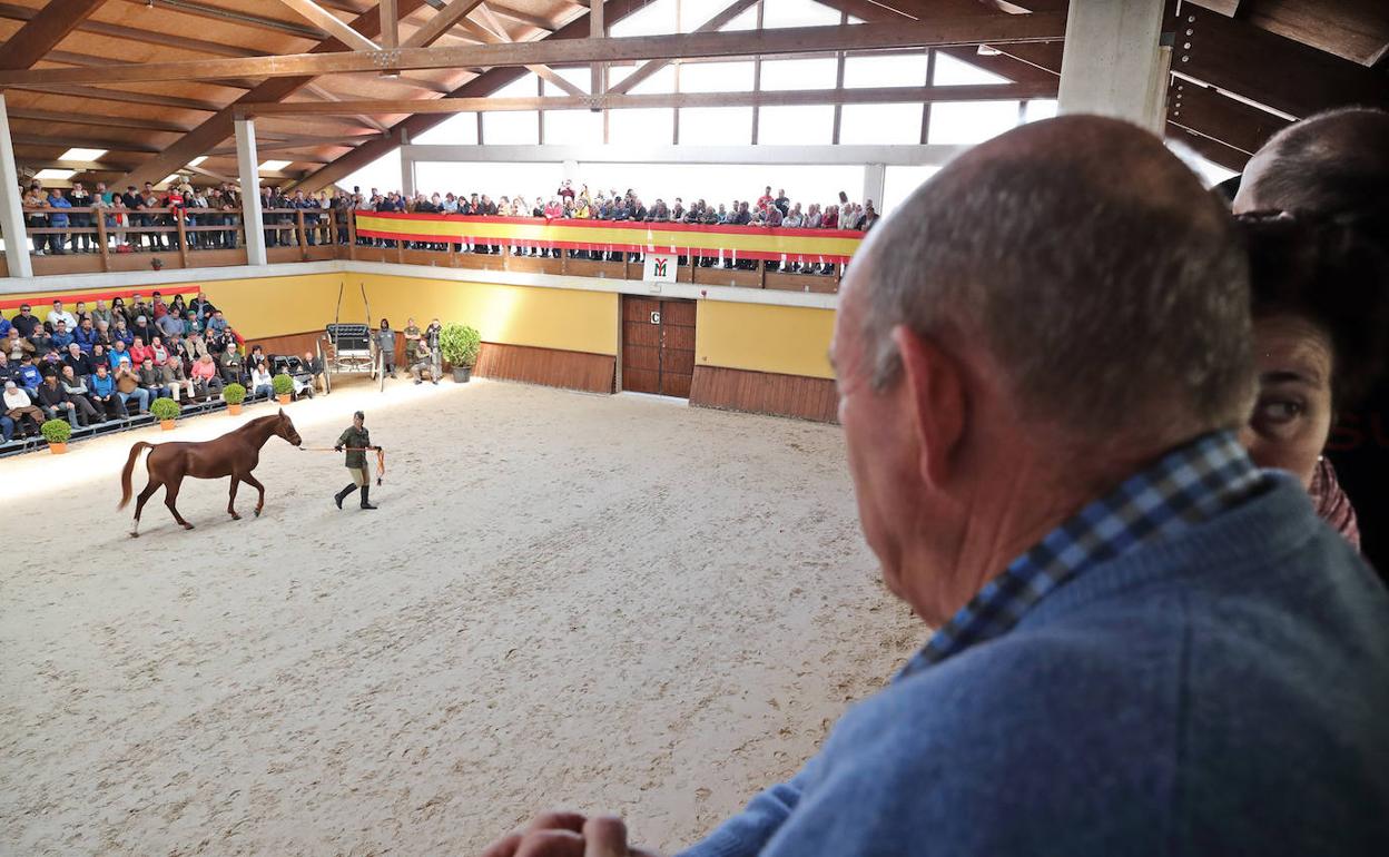
{"type": "Polygon", "coordinates": [[[950,618],[899,678],[1001,636],[1049,592],[1086,568],[1176,533],[1268,485],[1233,432],[1214,432],[1129,476],[1047,533],[950,618]]]}

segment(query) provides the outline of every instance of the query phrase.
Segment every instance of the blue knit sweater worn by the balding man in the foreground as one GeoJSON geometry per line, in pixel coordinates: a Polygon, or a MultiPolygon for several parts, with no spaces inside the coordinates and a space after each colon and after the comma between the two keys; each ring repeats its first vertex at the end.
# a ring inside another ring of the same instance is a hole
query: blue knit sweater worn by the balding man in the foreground
{"type": "Polygon", "coordinates": [[[850,710],[682,857],[1389,856],[1389,596],[1292,479],[850,710]]]}

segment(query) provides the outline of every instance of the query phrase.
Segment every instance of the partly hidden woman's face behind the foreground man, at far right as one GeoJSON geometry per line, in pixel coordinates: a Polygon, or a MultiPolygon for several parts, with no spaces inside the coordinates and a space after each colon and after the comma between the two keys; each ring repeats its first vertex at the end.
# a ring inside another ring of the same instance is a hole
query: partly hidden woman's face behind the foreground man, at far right
{"type": "Polygon", "coordinates": [[[1332,349],[1315,325],[1290,315],[1254,322],[1258,401],[1240,440],[1260,467],[1311,485],[1331,433],[1332,349]]]}

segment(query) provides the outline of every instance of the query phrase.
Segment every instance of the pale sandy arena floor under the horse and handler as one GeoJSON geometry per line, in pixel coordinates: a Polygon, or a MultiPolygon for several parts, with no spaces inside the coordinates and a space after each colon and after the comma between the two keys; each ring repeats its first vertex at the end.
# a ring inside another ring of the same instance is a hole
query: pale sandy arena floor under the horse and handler
{"type": "Polygon", "coordinates": [[[271,439],[263,518],[186,481],[196,531],[160,492],[126,536],[131,443],[264,404],[0,461],[0,854],[471,854],[551,806],[674,850],[925,636],[836,428],[488,382],[289,413],[332,446],[357,407],[375,513],[271,439]]]}

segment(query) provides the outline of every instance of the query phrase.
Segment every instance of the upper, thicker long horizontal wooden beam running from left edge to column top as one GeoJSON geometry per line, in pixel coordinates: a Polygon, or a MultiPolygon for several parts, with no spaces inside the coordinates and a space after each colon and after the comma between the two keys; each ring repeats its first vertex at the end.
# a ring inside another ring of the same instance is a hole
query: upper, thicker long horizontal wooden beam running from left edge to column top
{"type": "Polygon", "coordinates": [[[685,56],[782,54],[874,47],[926,47],[950,44],[1006,44],[1056,40],[1065,18],[1057,13],[1032,15],[970,15],[924,19],[915,24],[861,24],[849,26],[800,26],[763,32],[704,32],[625,39],[568,39],[418,47],[389,53],[332,51],[204,60],[201,63],[149,63],[94,72],[88,68],[0,71],[0,85],[93,83],[139,81],[215,81],[222,76],[304,76],[411,68],[499,67],[574,61],[658,60],[685,56]]]}

